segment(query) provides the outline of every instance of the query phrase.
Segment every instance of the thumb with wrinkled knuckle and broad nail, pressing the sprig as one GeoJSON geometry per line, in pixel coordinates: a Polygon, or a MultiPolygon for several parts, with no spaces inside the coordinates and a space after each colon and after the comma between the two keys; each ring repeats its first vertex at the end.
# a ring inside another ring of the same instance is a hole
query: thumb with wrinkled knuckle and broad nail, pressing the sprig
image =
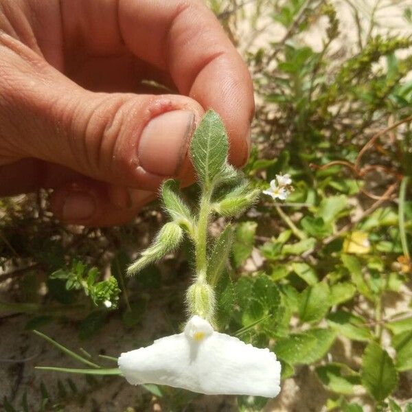
{"type": "Polygon", "coordinates": [[[36,158],[143,190],[190,176],[187,148],[203,113],[194,100],[92,93],[13,38],[1,43],[1,163],[36,158]]]}

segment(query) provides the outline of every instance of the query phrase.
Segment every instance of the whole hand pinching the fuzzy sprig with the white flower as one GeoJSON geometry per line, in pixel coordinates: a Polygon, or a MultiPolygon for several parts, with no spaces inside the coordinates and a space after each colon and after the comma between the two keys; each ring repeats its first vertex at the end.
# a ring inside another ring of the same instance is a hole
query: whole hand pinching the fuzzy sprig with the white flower
{"type": "Polygon", "coordinates": [[[0,0],[0,196],[51,188],[62,222],[127,222],[167,177],[193,181],[208,108],[243,165],[251,78],[202,1],[0,0]]]}

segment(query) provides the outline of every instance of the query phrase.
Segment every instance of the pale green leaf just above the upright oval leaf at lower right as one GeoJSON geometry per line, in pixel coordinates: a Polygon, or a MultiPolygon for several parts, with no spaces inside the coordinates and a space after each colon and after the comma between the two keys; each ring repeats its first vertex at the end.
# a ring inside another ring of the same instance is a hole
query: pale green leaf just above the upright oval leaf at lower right
{"type": "Polygon", "coordinates": [[[372,339],[371,331],[365,321],[352,313],[337,310],[328,315],[328,323],[338,334],[342,334],[352,341],[369,342],[372,339]]]}

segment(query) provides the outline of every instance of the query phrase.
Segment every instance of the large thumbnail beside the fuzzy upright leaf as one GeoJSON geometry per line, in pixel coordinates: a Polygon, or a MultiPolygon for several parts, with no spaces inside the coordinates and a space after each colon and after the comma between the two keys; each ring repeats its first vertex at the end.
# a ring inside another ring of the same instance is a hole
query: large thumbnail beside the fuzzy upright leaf
{"type": "Polygon", "coordinates": [[[194,113],[175,110],[146,125],[139,141],[139,161],[146,172],[174,176],[179,171],[193,133],[194,113]]]}

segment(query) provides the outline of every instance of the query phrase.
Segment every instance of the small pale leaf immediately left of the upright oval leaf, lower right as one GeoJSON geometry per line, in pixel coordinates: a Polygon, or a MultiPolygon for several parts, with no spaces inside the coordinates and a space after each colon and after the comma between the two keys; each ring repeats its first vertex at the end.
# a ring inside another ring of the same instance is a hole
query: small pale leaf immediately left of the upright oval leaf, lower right
{"type": "Polygon", "coordinates": [[[352,395],[354,385],[361,385],[361,377],[343,363],[328,363],[316,368],[317,376],[331,391],[352,395]]]}

